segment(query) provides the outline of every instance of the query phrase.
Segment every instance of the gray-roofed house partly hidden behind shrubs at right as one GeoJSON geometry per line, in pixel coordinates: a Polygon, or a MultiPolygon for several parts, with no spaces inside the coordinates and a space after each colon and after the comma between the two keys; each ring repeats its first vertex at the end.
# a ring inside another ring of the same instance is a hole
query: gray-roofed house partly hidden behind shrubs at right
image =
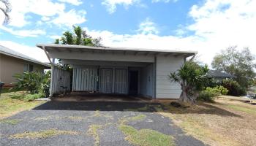
{"type": "Polygon", "coordinates": [[[221,82],[224,79],[232,79],[234,77],[231,74],[227,74],[219,70],[209,70],[206,75],[207,77],[214,78],[217,82],[221,82]]]}

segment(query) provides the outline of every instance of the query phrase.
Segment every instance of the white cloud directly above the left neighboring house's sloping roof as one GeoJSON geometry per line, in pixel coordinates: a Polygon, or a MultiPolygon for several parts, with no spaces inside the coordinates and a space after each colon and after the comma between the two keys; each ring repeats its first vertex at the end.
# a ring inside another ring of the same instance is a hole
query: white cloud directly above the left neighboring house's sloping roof
{"type": "Polygon", "coordinates": [[[0,45],[3,45],[4,47],[8,47],[12,50],[17,51],[18,53],[22,53],[38,61],[49,62],[44,51],[39,47],[35,47],[35,46],[31,47],[27,45],[18,44],[12,41],[0,41],[0,45]]]}

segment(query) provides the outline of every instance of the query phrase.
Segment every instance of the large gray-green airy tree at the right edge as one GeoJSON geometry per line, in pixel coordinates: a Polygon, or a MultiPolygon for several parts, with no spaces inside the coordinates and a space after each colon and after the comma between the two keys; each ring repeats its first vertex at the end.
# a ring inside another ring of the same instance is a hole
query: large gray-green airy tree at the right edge
{"type": "Polygon", "coordinates": [[[236,48],[233,46],[222,50],[220,54],[214,57],[211,66],[214,69],[232,74],[239,85],[249,88],[256,76],[254,72],[255,56],[252,55],[248,47],[244,47],[241,51],[236,48]]]}

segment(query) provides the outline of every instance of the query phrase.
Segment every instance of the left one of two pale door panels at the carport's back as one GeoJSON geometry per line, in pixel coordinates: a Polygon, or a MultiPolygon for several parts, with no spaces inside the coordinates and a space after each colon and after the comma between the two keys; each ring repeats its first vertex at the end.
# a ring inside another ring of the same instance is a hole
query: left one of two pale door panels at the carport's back
{"type": "Polygon", "coordinates": [[[113,69],[101,69],[100,71],[100,92],[112,93],[113,69]]]}

